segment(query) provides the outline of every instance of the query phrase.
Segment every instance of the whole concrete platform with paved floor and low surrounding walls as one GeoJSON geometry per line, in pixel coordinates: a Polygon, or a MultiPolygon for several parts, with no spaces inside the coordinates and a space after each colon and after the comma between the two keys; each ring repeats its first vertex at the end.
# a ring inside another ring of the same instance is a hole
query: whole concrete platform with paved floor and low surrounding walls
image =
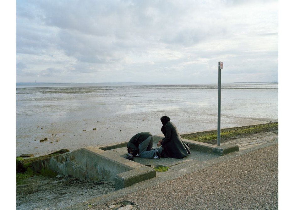
{"type": "MultiPolygon", "coordinates": [[[[163,136],[154,136],[154,147],[163,136]]],[[[165,179],[177,178],[208,166],[208,161],[230,152],[239,151],[234,144],[215,146],[183,139],[190,145],[191,154],[181,159],[175,158],[139,158],[126,159],[127,143],[103,147],[85,147],[67,152],[42,161],[31,163],[28,168],[40,174],[64,175],[78,178],[106,180],[114,182],[120,190],[144,180],[163,176],[165,179]],[[147,166],[147,165],[150,165],[147,166]],[[156,172],[153,166],[168,166],[167,172],[156,172]]]]}

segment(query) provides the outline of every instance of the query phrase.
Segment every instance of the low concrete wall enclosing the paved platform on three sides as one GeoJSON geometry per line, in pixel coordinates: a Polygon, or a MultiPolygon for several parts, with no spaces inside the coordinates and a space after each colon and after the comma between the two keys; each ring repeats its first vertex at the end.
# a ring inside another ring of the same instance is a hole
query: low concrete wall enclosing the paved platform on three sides
{"type": "MultiPolygon", "coordinates": [[[[163,136],[154,135],[154,145],[162,138],[163,136]]],[[[183,139],[183,141],[190,145],[191,150],[221,156],[239,151],[238,145],[235,144],[217,146],[187,139],[183,139]]],[[[154,169],[123,157],[122,151],[125,147],[127,152],[127,143],[128,141],[99,148],[88,146],[30,163],[27,169],[44,175],[56,176],[59,174],[112,181],[116,190],[156,177],[154,169]]]]}

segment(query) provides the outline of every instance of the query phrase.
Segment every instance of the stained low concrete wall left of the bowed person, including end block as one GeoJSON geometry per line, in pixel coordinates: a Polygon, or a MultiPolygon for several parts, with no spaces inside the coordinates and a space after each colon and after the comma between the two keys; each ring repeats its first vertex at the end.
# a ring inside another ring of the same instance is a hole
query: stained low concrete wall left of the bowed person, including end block
{"type": "Polygon", "coordinates": [[[154,169],[93,146],[36,161],[30,169],[40,174],[112,181],[116,190],[156,177],[154,169]]]}

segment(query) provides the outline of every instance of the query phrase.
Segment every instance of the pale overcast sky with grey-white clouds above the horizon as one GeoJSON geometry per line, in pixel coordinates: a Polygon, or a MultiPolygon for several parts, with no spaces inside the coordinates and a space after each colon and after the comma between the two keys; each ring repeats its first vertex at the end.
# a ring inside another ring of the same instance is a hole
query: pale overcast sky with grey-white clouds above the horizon
{"type": "Polygon", "coordinates": [[[277,0],[16,1],[16,82],[278,81],[277,0]]]}

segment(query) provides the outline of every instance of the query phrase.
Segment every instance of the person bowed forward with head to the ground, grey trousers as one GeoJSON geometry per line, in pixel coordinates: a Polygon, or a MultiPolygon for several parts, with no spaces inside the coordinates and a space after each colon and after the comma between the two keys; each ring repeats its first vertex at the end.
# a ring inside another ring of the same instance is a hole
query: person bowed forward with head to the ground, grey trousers
{"type": "Polygon", "coordinates": [[[153,147],[153,135],[150,132],[135,134],[127,144],[127,159],[133,159],[138,154],[140,158],[160,158],[162,148],[153,147]]]}

